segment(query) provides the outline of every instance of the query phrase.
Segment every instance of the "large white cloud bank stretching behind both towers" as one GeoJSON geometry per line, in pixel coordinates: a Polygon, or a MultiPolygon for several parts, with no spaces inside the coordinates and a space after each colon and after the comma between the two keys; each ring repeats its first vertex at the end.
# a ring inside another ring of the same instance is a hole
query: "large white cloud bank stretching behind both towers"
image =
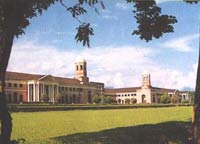
{"type": "Polygon", "coordinates": [[[8,70],[74,77],[75,59],[82,55],[87,60],[90,80],[104,82],[107,87],[140,86],[141,74],[148,70],[153,86],[194,88],[196,64],[183,73],[153,61],[152,57],[158,54],[155,49],[141,46],[102,46],[69,51],[37,41],[23,41],[14,44],[8,70]]]}

